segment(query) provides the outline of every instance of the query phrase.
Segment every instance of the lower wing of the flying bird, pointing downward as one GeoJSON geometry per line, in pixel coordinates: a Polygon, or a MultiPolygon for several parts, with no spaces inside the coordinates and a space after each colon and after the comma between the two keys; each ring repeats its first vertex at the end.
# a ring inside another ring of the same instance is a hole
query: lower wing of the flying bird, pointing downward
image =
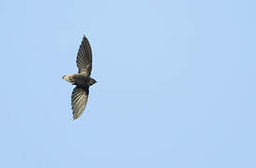
{"type": "Polygon", "coordinates": [[[78,119],[83,114],[84,107],[87,103],[88,95],[88,88],[84,89],[77,86],[72,91],[71,104],[73,110],[73,119],[78,119]]]}

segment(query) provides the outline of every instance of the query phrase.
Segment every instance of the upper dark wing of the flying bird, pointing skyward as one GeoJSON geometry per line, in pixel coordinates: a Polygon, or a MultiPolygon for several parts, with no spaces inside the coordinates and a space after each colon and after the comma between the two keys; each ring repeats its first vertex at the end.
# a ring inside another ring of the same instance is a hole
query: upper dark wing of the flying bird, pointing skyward
{"type": "Polygon", "coordinates": [[[77,53],[78,73],[90,76],[92,71],[92,49],[88,39],[83,35],[83,41],[77,53]]]}

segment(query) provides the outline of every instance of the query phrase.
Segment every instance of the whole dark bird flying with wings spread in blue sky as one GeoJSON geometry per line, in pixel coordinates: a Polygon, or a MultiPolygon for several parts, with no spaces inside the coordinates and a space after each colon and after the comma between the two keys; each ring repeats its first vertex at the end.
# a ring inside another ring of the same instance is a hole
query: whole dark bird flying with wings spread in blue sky
{"type": "Polygon", "coordinates": [[[85,35],[83,35],[83,40],[77,53],[76,63],[78,73],[62,77],[72,85],[75,85],[71,94],[73,119],[78,119],[83,114],[89,96],[89,87],[97,83],[96,79],[91,77],[92,49],[85,35]]]}

